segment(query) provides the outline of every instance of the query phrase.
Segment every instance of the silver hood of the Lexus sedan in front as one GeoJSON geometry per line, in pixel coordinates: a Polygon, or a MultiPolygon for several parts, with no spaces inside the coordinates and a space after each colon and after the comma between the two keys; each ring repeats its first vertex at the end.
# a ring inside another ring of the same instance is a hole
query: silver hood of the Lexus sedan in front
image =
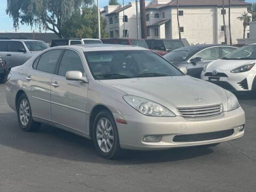
{"type": "Polygon", "coordinates": [[[190,76],[111,79],[101,82],[126,94],[160,103],[173,112],[177,107],[224,105],[227,101],[221,87],[190,76]],[[203,101],[196,101],[196,98],[202,98],[203,101]]]}

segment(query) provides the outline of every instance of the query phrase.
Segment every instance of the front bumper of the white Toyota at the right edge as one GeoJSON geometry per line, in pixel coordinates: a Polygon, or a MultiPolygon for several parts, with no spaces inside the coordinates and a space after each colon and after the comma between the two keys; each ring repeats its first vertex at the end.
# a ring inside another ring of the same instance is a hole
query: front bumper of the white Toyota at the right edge
{"type": "Polygon", "coordinates": [[[218,75],[205,76],[205,74],[212,73],[213,70],[206,70],[201,73],[201,79],[217,84],[226,90],[230,91],[251,91],[255,73],[247,71],[243,73],[233,74],[229,70],[216,70],[218,74],[226,74],[227,77],[220,77],[218,75]],[[211,80],[209,79],[211,78],[211,80]],[[214,79],[216,78],[216,79],[214,79]],[[219,79],[217,79],[219,78],[219,79]],[[214,81],[215,80],[215,81],[214,81]]]}

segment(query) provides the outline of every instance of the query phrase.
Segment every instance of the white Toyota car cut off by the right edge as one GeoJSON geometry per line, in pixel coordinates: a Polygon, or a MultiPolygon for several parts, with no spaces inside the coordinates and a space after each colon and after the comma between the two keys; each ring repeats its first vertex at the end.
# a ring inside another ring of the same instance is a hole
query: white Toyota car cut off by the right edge
{"type": "Polygon", "coordinates": [[[231,91],[256,91],[256,43],[204,66],[201,78],[231,91]]]}

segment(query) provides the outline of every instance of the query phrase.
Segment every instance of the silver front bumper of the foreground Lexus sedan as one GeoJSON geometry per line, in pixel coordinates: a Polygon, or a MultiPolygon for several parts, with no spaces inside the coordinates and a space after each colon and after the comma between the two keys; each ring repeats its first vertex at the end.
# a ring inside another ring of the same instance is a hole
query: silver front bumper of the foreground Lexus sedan
{"type": "Polygon", "coordinates": [[[115,118],[122,118],[127,124],[118,124],[120,146],[123,149],[158,150],[175,147],[188,147],[219,143],[234,140],[244,135],[238,131],[239,125],[245,124],[245,114],[241,107],[233,111],[227,111],[221,115],[207,118],[177,117],[148,117],[137,111],[134,115],[124,116],[114,114],[115,118]],[[211,133],[234,129],[234,133],[228,137],[203,141],[174,142],[176,135],[211,133]],[[142,139],[148,135],[161,135],[159,142],[144,142],[142,139]]]}

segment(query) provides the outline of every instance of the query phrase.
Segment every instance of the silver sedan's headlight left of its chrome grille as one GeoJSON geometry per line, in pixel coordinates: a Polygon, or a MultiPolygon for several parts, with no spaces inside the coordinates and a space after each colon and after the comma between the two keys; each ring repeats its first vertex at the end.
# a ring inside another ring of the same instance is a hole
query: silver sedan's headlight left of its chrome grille
{"type": "Polygon", "coordinates": [[[133,95],[124,95],[123,98],[130,106],[138,110],[143,115],[155,117],[175,117],[175,114],[172,113],[172,111],[154,101],[133,95]]]}

